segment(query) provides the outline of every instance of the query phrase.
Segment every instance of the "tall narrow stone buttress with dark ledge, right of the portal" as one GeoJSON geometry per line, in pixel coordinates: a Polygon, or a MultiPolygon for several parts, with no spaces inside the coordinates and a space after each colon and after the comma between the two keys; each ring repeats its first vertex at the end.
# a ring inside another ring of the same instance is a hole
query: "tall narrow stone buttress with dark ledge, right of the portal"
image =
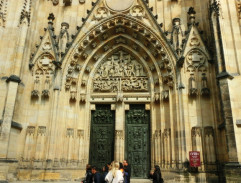
{"type": "Polygon", "coordinates": [[[216,1],[210,6],[211,10],[211,23],[213,28],[213,34],[215,39],[215,47],[216,47],[216,59],[218,63],[218,76],[219,80],[219,89],[220,89],[220,103],[221,103],[221,113],[223,118],[223,123],[220,125],[223,128],[220,130],[225,130],[226,141],[227,141],[227,149],[228,149],[228,157],[229,162],[237,163],[238,162],[238,153],[237,153],[237,145],[234,133],[233,126],[233,115],[232,115],[232,107],[229,93],[229,79],[232,79],[227,70],[225,64],[225,54],[223,50],[223,32],[221,29],[222,18],[220,17],[220,9],[219,4],[216,1]]]}

